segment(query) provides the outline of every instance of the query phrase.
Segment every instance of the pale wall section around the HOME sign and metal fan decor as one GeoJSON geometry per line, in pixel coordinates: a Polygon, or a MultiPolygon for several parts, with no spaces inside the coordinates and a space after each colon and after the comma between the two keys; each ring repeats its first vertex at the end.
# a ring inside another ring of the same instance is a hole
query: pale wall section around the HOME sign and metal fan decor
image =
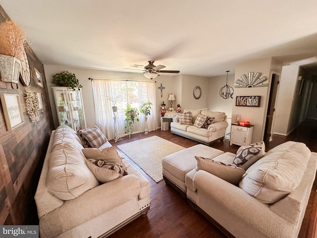
{"type": "Polygon", "coordinates": [[[241,115],[242,121],[250,121],[253,127],[252,143],[263,140],[268,92],[270,86],[270,72],[271,58],[252,60],[248,62],[239,63],[235,67],[235,81],[241,79],[241,75],[249,72],[260,72],[261,77],[265,76],[268,83],[267,87],[252,87],[252,88],[234,88],[234,100],[232,104],[232,121],[235,121],[236,115],[241,115]],[[239,107],[235,106],[235,99],[237,96],[261,96],[260,107],[239,107]]]}

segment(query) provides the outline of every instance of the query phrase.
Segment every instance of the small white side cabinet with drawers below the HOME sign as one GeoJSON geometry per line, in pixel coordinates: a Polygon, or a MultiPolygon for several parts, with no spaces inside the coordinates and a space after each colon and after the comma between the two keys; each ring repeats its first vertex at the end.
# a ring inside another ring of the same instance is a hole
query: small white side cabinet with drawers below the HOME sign
{"type": "Polygon", "coordinates": [[[252,140],[254,125],[235,125],[231,124],[230,145],[249,145],[252,140]]]}

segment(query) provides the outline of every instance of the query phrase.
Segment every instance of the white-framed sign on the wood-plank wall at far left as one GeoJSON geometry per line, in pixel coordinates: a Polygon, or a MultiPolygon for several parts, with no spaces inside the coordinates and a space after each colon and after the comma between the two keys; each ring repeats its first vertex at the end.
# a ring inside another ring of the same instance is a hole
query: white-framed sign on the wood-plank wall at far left
{"type": "Polygon", "coordinates": [[[24,123],[24,117],[21,107],[20,95],[18,94],[0,94],[0,100],[3,109],[3,115],[7,130],[13,130],[24,123]]]}

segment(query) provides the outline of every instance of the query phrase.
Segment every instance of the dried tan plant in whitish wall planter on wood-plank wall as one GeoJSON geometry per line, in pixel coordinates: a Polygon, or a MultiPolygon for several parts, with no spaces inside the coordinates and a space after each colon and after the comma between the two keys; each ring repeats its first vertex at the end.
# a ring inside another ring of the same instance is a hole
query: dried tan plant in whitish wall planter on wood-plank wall
{"type": "Polygon", "coordinates": [[[24,32],[10,20],[0,24],[0,32],[1,80],[18,83],[26,44],[24,32]]]}

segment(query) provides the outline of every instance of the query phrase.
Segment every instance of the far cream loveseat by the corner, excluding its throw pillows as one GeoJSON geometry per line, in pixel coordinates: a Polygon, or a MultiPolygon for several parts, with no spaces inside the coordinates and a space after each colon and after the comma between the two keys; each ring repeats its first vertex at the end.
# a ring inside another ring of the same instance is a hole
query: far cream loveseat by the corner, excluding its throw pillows
{"type": "Polygon", "coordinates": [[[170,123],[170,130],[173,134],[181,135],[186,138],[202,142],[209,145],[215,140],[223,140],[228,126],[225,113],[212,112],[206,109],[185,109],[184,113],[191,112],[193,115],[191,124],[180,123],[179,117],[174,118],[170,123]],[[194,125],[197,117],[202,114],[214,118],[213,123],[208,128],[199,128],[194,125]]]}

